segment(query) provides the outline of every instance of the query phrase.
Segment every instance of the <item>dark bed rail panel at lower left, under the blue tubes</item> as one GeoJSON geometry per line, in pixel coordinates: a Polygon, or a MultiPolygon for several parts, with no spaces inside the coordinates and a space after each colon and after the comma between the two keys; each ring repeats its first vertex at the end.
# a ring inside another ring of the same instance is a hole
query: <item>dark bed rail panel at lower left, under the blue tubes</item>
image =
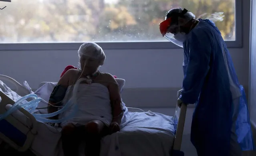
{"type": "MultiPolygon", "coordinates": [[[[15,102],[0,91],[0,114],[6,112],[7,105],[13,105],[15,102]]],[[[34,136],[37,133],[37,122],[33,115],[25,109],[19,109],[20,113],[27,117],[27,121],[31,124],[26,125],[20,119],[13,115],[8,115],[5,119],[0,120],[0,139],[8,143],[14,149],[24,152],[30,148],[34,136]]]]}

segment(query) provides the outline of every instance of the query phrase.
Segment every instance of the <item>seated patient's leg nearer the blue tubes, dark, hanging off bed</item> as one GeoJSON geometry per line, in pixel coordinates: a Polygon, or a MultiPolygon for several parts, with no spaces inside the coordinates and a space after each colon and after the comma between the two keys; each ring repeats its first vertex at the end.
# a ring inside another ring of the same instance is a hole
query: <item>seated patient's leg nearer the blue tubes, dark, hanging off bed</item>
{"type": "Polygon", "coordinates": [[[79,137],[73,124],[62,128],[62,148],[65,156],[79,156],[79,137]]]}

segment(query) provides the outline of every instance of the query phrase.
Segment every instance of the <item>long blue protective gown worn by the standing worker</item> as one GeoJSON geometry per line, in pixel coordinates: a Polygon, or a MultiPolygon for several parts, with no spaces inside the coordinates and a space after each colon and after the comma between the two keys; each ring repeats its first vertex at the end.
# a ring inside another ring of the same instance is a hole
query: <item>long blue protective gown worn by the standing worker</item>
{"type": "MultiPolygon", "coordinates": [[[[183,42],[183,103],[196,104],[191,142],[198,156],[229,156],[232,131],[241,150],[254,144],[244,88],[220,31],[202,20],[183,42]]],[[[236,142],[236,143],[237,143],[236,142]]]]}

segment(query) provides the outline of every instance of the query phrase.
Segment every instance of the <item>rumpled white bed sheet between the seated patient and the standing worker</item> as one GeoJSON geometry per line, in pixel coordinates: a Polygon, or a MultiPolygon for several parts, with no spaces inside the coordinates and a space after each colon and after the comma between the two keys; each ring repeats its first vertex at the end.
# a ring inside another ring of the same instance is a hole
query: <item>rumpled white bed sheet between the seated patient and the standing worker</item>
{"type": "Polygon", "coordinates": [[[169,156],[174,141],[173,117],[129,112],[120,132],[102,139],[102,156],[169,156]]]}

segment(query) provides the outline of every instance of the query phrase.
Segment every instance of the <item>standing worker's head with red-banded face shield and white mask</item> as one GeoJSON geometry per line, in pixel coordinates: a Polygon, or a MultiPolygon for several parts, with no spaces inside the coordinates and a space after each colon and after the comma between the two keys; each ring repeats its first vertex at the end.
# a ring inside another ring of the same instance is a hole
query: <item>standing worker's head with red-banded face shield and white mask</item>
{"type": "Polygon", "coordinates": [[[194,28],[196,22],[195,15],[191,12],[186,9],[174,8],[165,14],[165,20],[159,24],[159,29],[162,36],[183,47],[186,34],[194,28]]]}

